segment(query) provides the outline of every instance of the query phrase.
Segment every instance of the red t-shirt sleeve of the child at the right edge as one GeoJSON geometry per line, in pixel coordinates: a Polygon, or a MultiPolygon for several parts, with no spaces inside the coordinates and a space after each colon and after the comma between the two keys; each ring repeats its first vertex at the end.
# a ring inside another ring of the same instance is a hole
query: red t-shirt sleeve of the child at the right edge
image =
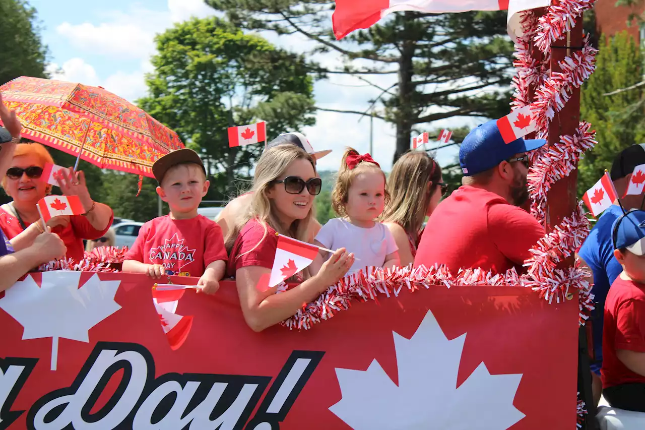
{"type": "Polygon", "coordinates": [[[615,349],[645,353],[645,302],[626,300],[616,314],[615,349]]]}

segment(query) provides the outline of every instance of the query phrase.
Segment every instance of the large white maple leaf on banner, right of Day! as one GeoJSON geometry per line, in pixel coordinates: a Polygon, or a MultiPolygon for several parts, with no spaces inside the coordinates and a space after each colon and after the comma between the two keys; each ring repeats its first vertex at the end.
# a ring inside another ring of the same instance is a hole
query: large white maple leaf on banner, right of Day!
{"type": "Polygon", "coordinates": [[[410,340],[392,334],[398,386],[376,360],[336,369],[342,398],[329,409],[352,429],[503,430],[524,418],[513,406],[522,374],[491,375],[481,363],[457,387],[466,334],[448,340],[432,312],[410,340]]]}

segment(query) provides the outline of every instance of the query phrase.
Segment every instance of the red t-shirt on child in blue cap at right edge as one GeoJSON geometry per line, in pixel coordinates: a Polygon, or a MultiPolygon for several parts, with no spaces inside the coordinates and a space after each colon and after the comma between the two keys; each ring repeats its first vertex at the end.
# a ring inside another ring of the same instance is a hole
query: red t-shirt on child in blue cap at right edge
{"type": "Polygon", "coordinates": [[[621,279],[611,284],[602,326],[602,387],[645,384],[616,355],[618,349],[645,353],[645,285],[621,279]]]}

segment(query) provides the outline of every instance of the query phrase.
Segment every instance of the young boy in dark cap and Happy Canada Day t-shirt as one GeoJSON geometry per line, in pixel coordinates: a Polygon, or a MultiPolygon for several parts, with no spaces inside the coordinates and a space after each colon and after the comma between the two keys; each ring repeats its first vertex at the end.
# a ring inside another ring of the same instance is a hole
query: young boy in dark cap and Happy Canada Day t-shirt
{"type": "Polygon", "coordinates": [[[139,229],[123,271],[156,279],[168,274],[201,276],[197,285],[213,294],[224,277],[227,257],[219,225],[197,214],[210,185],[201,159],[192,149],[175,150],[155,161],[152,174],[159,182],[157,194],[168,203],[170,214],[139,229]]]}

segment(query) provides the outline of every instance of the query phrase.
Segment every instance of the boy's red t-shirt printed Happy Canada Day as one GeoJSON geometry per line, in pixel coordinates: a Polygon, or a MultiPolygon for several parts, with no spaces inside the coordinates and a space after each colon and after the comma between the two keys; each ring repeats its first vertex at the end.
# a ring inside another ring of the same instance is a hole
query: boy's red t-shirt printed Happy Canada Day
{"type": "Polygon", "coordinates": [[[202,276],[213,261],[226,261],[224,236],[219,225],[205,216],[188,220],[160,216],[139,229],[125,259],[161,264],[166,274],[202,276]]]}

